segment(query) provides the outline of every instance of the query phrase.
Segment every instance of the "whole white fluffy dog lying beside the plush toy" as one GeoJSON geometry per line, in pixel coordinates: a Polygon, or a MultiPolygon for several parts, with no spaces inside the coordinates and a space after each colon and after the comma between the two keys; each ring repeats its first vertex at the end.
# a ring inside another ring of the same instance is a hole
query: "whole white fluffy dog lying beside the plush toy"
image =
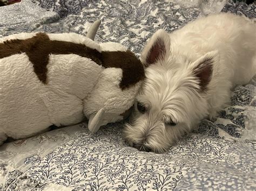
{"type": "Polygon", "coordinates": [[[231,89],[256,71],[256,25],[228,13],[199,18],[144,47],[146,80],[124,136],[140,151],[164,152],[200,119],[214,119],[231,89]]]}

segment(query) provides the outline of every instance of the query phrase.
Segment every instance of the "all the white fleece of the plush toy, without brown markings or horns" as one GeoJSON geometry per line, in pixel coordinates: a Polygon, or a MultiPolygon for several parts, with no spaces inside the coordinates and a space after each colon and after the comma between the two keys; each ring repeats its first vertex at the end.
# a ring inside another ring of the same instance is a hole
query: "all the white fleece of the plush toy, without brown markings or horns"
{"type": "MultiPolygon", "coordinates": [[[[14,34],[0,39],[0,43],[35,35],[14,34]]],[[[107,48],[110,51],[126,51],[121,45],[97,44],[75,33],[48,36],[50,40],[82,43],[99,52],[107,48]]],[[[0,145],[7,137],[30,137],[45,131],[52,124],[79,123],[84,115],[90,119],[102,108],[105,116],[99,119],[100,125],[121,120],[123,117],[120,114],[132,107],[140,86],[137,83],[122,91],[119,88],[122,69],[105,69],[91,59],[75,54],[51,54],[47,68],[48,83],[44,84],[39,81],[26,53],[0,59],[0,145]],[[124,97],[117,96],[125,93],[124,97]],[[87,105],[88,108],[84,108],[87,105]]]]}

